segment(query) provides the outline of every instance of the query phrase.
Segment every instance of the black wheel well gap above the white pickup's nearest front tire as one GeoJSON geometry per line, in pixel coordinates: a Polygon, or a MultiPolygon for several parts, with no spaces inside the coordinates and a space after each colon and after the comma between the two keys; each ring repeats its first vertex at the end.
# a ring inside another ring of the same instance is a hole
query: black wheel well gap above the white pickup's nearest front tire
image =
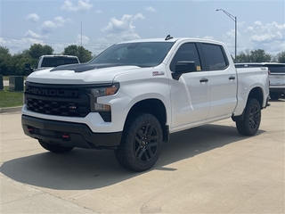
{"type": "MultiPolygon", "coordinates": [[[[138,103],[135,103],[131,110],[128,112],[126,120],[134,115],[135,112],[145,112],[150,113],[155,116],[160,123],[160,126],[163,131],[163,140],[168,141],[169,128],[166,125],[167,123],[167,111],[164,104],[159,99],[147,99],[142,100],[138,103]]],[[[126,122],[125,122],[126,124],[126,122]]]]}

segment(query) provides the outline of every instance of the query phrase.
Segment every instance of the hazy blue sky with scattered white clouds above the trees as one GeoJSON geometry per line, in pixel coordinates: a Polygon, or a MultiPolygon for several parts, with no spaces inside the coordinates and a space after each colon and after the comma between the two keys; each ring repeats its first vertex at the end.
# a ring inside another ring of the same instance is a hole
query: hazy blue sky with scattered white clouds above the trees
{"type": "Polygon", "coordinates": [[[61,53],[83,45],[94,54],[136,38],[200,37],[224,42],[234,55],[237,17],[238,53],[285,50],[284,0],[0,0],[0,45],[19,53],[35,43],[61,53]]]}

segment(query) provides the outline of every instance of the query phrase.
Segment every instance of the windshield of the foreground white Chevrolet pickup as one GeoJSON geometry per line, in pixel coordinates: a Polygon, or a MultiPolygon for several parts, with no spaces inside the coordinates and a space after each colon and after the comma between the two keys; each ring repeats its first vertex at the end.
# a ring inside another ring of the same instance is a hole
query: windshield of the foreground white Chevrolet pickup
{"type": "Polygon", "coordinates": [[[91,64],[121,64],[152,67],[159,65],[174,42],[143,42],[112,45],[96,56],[91,64]]]}

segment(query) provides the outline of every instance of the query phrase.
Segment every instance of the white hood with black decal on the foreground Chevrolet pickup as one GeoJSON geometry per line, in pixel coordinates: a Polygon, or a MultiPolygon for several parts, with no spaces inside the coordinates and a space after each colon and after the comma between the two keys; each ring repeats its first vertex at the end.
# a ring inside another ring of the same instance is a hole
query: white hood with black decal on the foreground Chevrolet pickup
{"type": "Polygon", "coordinates": [[[110,83],[119,74],[139,69],[122,64],[71,64],[34,71],[26,80],[45,84],[100,84],[110,83]]]}

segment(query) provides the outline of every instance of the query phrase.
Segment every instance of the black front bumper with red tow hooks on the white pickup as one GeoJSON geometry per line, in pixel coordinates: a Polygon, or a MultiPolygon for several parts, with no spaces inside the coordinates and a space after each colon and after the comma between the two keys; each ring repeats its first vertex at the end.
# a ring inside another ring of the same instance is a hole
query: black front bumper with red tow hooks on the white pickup
{"type": "Polygon", "coordinates": [[[27,136],[60,146],[115,149],[121,141],[122,132],[94,133],[82,123],[62,122],[21,116],[21,125],[27,136]]]}

